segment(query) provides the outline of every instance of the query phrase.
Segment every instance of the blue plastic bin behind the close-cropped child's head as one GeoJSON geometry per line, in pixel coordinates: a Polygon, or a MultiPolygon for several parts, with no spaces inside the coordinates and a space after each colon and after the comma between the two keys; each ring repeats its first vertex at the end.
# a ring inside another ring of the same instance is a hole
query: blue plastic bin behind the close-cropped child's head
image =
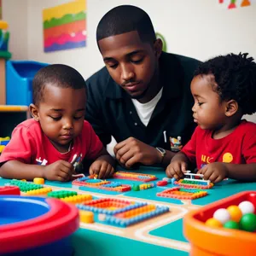
{"type": "Polygon", "coordinates": [[[45,66],[48,64],[37,61],[6,61],[6,104],[32,103],[32,79],[45,66]]]}

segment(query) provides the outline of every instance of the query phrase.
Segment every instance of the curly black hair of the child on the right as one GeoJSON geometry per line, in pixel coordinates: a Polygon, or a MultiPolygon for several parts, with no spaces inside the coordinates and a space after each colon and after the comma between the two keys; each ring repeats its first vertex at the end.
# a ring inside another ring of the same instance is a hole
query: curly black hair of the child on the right
{"type": "Polygon", "coordinates": [[[217,84],[213,88],[221,100],[235,100],[242,114],[256,112],[256,63],[247,55],[219,55],[195,71],[195,76],[212,74],[217,84]]]}

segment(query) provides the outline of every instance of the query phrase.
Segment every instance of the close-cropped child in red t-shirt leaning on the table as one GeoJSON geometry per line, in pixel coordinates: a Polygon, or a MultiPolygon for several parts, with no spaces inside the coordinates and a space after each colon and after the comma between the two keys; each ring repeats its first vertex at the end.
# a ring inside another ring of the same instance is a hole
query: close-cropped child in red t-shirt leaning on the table
{"type": "Polygon", "coordinates": [[[33,79],[33,119],[17,125],[0,156],[0,176],[68,181],[84,158],[90,174],[111,176],[113,158],[84,120],[85,81],[73,67],[43,67],[33,79]]]}

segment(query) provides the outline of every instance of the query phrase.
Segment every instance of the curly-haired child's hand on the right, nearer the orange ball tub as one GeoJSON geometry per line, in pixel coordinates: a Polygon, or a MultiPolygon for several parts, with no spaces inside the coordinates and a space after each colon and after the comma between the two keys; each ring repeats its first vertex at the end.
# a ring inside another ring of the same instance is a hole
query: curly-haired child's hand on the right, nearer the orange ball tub
{"type": "Polygon", "coordinates": [[[204,179],[209,179],[212,183],[219,183],[225,177],[228,177],[229,170],[227,164],[216,162],[203,166],[197,173],[203,174],[204,179]]]}

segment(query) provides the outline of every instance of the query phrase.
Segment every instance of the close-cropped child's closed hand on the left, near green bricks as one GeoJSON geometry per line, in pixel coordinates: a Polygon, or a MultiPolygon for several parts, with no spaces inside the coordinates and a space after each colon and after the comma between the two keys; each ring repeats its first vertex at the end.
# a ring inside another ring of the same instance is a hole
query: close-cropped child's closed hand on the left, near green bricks
{"type": "Polygon", "coordinates": [[[48,180],[69,181],[74,173],[73,165],[64,160],[45,166],[44,177],[48,180]]]}

